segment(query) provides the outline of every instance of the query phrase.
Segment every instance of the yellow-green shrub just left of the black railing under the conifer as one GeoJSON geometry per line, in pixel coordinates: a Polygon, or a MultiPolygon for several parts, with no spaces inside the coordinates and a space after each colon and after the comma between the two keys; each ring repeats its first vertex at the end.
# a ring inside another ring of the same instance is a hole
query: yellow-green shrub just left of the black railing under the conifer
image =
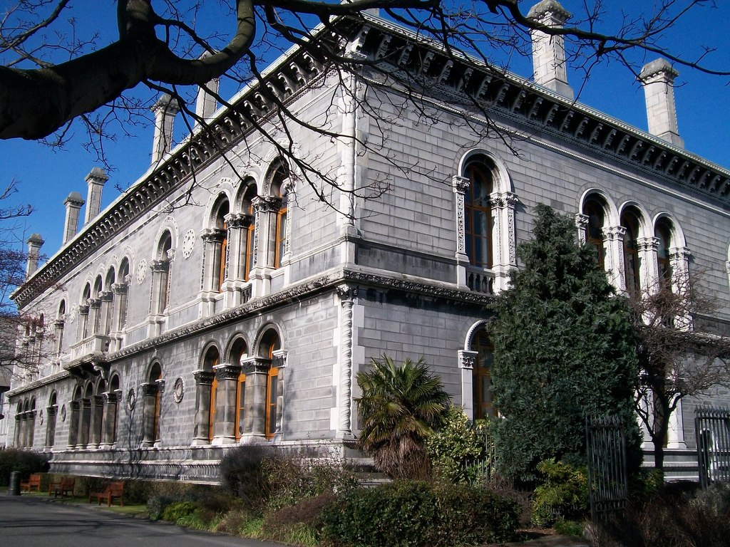
{"type": "Polygon", "coordinates": [[[545,459],[537,470],[543,484],[535,489],[532,521],[551,526],[559,519],[580,521],[588,515],[588,472],[585,468],[545,459]]]}

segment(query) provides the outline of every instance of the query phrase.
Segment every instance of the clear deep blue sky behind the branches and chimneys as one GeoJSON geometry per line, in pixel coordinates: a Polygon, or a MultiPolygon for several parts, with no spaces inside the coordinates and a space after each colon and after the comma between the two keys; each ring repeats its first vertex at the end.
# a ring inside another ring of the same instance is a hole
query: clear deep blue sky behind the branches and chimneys
{"type": "MultiPolygon", "coordinates": [[[[81,2],[83,3],[83,2],[81,2]]],[[[528,2],[525,2],[527,5],[528,2]]],[[[564,0],[566,9],[576,15],[583,4],[580,0],[564,0]]],[[[626,12],[637,9],[648,11],[652,1],[607,2],[610,9],[608,23],[626,12]]],[[[94,28],[99,29],[101,44],[113,38],[115,20],[111,1],[94,2],[94,28]]],[[[730,67],[730,2],[719,1],[717,7],[708,4],[697,10],[682,25],[672,28],[665,36],[665,43],[678,55],[691,58],[702,52],[703,46],[718,48],[710,57],[710,63],[718,68],[730,67]]],[[[635,54],[639,65],[656,57],[635,54]]],[[[509,63],[516,74],[529,77],[529,58],[513,58],[509,63]]],[[[700,155],[721,166],[730,167],[730,87],[728,77],[708,76],[691,69],[679,68],[675,96],[680,135],[686,150],[700,155]]],[[[644,95],[633,75],[618,63],[602,64],[593,69],[588,80],[580,74],[569,74],[575,90],[580,91],[580,102],[617,117],[642,130],[646,129],[644,95]]],[[[181,125],[181,124],[180,124],[181,125]]],[[[80,125],[75,128],[79,133],[80,125]]],[[[143,174],[150,163],[153,129],[150,126],[134,128],[134,136],[118,136],[108,141],[105,150],[114,171],[104,187],[102,206],[107,206],[143,174]]],[[[64,198],[72,191],[86,195],[85,176],[97,165],[93,152],[82,146],[82,134],[78,134],[64,150],[53,150],[34,141],[0,141],[0,182],[7,185],[15,179],[18,194],[14,198],[31,203],[35,212],[18,228],[18,236],[27,238],[30,233],[40,233],[46,243],[45,255],[53,255],[61,247],[64,227],[64,198]]]]}

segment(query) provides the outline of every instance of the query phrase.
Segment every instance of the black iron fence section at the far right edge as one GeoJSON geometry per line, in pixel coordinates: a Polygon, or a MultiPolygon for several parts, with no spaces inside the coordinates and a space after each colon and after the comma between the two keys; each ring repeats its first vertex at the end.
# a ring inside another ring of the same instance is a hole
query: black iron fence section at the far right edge
{"type": "Polygon", "coordinates": [[[697,408],[694,427],[702,488],[730,482],[730,408],[697,408]]]}

